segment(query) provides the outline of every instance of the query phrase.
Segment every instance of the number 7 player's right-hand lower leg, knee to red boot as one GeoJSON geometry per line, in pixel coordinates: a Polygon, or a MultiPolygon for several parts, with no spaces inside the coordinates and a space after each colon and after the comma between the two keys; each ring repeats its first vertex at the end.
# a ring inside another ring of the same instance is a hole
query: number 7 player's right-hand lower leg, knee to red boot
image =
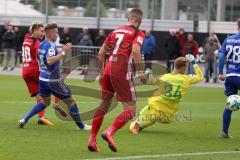
{"type": "Polygon", "coordinates": [[[136,113],[135,104],[135,101],[124,102],[124,111],[120,113],[114,120],[112,125],[102,133],[102,138],[108,142],[108,146],[113,152],[117,152],[117,146],[114,142],[113,135],[125,124],[127,124],[131,119],[133,119],[136,113]]]}

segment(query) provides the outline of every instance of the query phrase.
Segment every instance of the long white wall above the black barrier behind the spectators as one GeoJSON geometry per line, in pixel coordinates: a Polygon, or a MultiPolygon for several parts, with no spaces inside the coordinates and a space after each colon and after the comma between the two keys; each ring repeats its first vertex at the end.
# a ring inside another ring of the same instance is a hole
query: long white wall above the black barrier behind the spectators
{"type": "MultiPolygon", "coordinates": [[[[34,21],[45,22],[44,16],[38,17],[18,17],[18,16],[0,16],[0,24],[4,21],[10,20],[13,25],[29,26],[34,21]]],[[[72,27],[82,28],[88,26],[89,28],[97,28],[97,19],[92,17],[60,17],[49,16],[49,22],[56,22],[60,27],[72,27]]],[[[144,19],[141,25],[141,29],[151,29],[151,20],[144,19]]],[[[114,29],[121,25],[127,25],[127,19],[125,18],[101,18],[100,28],[114,29]]],[[[168,31],[172,28],[184,28],[187,32],[193,31],[192,21],[178,21],[178,20],[155,20],[155,31],[168,31]]],[[[211,31],[216,33],[233,34],[237,32],[236,22],[211,22],[211,31]]],[[[207,22],[199,22],[199,32],[207,32],[207,22]]]]}

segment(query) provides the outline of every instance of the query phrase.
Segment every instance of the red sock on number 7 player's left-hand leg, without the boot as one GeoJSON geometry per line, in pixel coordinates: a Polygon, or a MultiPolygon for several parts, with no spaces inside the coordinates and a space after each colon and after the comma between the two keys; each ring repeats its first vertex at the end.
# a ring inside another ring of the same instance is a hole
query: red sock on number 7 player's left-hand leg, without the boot
{"type": "Polygon", "coordinates": [[[102,107],[98,107],[94,113],[93,120],[92,120],[92,130],[91,130],[91,137],[96,138],[98,131],[102,125],[104,115],[106,111],[102,107]]]}

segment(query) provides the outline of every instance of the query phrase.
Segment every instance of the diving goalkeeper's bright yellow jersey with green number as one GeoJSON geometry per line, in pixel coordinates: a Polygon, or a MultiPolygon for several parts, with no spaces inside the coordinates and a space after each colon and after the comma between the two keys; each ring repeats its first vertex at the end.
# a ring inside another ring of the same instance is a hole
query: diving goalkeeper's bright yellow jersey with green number
{"type": "Polygon", "coordinates": [[[156,91],[154,95],[148,99],[148,103],[156,109],[176,113],[178,104],[185,95],[187,89],[192,84],[203,80],[203,74],[199,66],[195,64],[193,68],[195,72],[193,75],[169,73],[159,77],[157,80],[153,80],[153,84],[159,85],[159,91],[156,91]],[[162,82],[167,82],[169,85],[163,86],[162,82]],[[163,87],[167,90],[164,93],[162,93],[163,87]],[[160,105],[160,103],[166,104],[166,108],[164,109],[162,107],[163,105],[160,105]]]}

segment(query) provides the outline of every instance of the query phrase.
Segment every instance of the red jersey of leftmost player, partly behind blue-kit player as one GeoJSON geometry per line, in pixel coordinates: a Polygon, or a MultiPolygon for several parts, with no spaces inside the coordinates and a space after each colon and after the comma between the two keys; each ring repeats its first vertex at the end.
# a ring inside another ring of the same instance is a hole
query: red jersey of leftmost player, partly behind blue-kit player
{"type": "Polygon", "coordinates": [[[40,40],[34,37],[29,37],[24,40],[22,44],[22,75],[31,74],[32,72],[39,72],[39,65],[37,60],[38,46],[40,40]]]}

